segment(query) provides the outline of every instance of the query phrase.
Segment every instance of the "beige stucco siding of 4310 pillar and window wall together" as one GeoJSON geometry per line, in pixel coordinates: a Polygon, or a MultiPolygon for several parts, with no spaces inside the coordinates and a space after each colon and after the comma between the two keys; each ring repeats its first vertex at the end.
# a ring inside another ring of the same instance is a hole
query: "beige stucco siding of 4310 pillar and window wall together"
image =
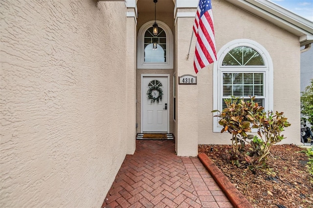
{"type": "MultiPolygon", "coordinates": [[[[212,1],[217,52],[228,42],[249,39],[261,44],[273,63],[273,111],[284,112],[291,126],[280,144],[300,143],[300,44],[299,38],[224,0],[212,1]]],[[[179,9],[179,11],[184,11],[179,9]]],[[[193,69],[195,38],[186,60],[194,18],[176,22],[177,76],[196,75],[193,69]]],[[[197,144],[231,144],[228,133],[213,132],[213,64],[196,75],[197,85],[177,85],[176,150],[179,155],[197,153],[197,144]]]]}

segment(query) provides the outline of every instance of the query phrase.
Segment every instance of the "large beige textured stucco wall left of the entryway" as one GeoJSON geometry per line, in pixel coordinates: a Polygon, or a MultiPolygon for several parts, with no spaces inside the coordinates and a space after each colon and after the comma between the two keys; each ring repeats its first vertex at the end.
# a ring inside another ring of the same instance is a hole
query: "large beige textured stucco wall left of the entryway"
{"type": "Polygon", "coordinates": [[[0,207],[100,207],[126,154],[123,1],[1,0],[0,207]]]}

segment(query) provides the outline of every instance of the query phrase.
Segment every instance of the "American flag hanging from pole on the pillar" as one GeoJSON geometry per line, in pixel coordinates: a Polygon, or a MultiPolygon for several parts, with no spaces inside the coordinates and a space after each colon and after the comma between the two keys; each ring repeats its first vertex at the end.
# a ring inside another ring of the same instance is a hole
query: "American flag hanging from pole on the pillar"
{"type": "Polygon", "coordinates": [[[197,74],[201,68],[217,60],[211,0],[199,1],[193,30],[197,38],[194,58],[197,74]]]}

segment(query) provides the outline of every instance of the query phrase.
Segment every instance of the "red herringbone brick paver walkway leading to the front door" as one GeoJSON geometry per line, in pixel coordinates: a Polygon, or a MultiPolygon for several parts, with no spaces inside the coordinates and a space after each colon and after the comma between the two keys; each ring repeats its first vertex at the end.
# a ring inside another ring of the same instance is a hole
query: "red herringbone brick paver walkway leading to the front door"
{"type": "Polygon", "coordinates": [[[102,208],[232,208],[197,157],[178,157],[173,140],[136,140],[102,208]]]}

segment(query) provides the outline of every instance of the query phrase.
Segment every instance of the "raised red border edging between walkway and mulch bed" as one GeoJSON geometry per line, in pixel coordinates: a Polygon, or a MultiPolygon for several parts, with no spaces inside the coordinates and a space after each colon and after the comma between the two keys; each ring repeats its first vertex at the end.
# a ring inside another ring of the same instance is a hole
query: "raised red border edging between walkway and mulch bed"
{"type": "Polygon", "coordinates": [[[228,180],[223,172],[204,154],[198,154],[203,166],[209,171],[215,182],[224,191],[226,197],[235,208],[253,208],[245,196],[228,180]]]}

